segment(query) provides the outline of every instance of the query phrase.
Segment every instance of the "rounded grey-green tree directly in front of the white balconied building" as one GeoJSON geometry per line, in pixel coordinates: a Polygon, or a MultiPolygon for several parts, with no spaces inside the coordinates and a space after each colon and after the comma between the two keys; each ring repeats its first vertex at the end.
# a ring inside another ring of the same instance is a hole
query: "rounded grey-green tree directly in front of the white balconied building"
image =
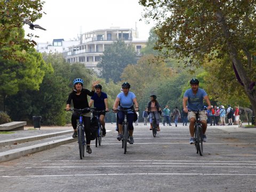
{"type": "Polygon", "coordinates": [[[136,63],[136,53],[131,45],[126,45],[123,41],[114,42],[106,47],[101,57],[101,62],[97,67],[101,68],[101,77],[109,82],[113,79],[114,83],[121,80],[120,76],[128,64],[136,63]]]}

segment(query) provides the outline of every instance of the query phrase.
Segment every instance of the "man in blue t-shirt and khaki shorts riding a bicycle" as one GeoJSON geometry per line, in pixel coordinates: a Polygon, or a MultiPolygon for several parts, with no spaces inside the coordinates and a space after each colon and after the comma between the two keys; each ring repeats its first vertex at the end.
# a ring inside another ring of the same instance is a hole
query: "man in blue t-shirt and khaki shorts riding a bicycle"
{"type": "Polygon", "coordinates": [[[203,141],[206,142],[207,138],[205,135],[207,129],[207,116],[204,111],[204,100],[206,101],[208,107],[207,109],[211,108],[211,102],[207,93],[199,88],[199,81],[197,78],[192,78],[190,80],[191,89],[186,90],[183,96],[183,110],[185,113],[188,113],[188,120],[189,120],[189,132],[190,132],[190,140],[189,143],[194,143],[194,132],[195,132],[195,119],[196,119],[196,111],[199,109],[201,110],[199,113],[202,128],[203,128],[203,141]],[[188,103],[188,105],[187,105],[188,103]]]}

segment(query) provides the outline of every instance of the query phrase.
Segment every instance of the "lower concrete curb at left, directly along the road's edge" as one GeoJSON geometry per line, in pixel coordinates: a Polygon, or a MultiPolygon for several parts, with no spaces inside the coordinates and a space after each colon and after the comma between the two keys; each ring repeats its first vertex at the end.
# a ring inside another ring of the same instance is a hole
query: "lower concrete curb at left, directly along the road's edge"
{"type": "Polygon", "coordinates": [[[55,140],[55,141],[49,141],[49,142],[45,142],[45,143],[41,143],[41,144],[37,144],[37,145],[33,145],[33,146],[7,150],[7,151],[0,153],[0,163],[10,161],[12,159],[19,158],[22,156],[26,156],[28,154],[37,153],[39,151],[43,151],[46,149],[58,147],[60,145],[74,142],[74,141],[77,141],[77,138],[68,137],[68,138],[59,139],[59,140],[55,140]]]}

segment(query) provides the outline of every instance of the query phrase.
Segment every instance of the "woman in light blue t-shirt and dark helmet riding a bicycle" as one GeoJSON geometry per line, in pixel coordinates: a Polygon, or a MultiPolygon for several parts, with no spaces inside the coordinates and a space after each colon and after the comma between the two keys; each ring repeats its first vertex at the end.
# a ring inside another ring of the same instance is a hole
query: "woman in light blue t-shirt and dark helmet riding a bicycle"
{"type": "MultiPolygon", "coordinates": [[[[113,110],[116,111],[118,107],[118,103],[120,102],[120,109],[134,109],[133,105],[135,105],[135,111],[139,110],[139,104],[137,102],[136,95],[133,92],[130,92],[130,87],[131,85],[128,82],[124,82],[122,84],[122,90],[123,92],[119,93],[116,97],[116,100],[113,105],[113,110]]],[[[118,116],[118,136],[117,139],[118,141],[121,141],[123,138],[123,121],[124,121],[124,111],[118,111],[117,112],[118,116]]],[[[134,143],[133,139],[133,119],[134,119],[134,112],[133,111],[128,111],[127,114],[127,122],[128,122],[128,130],[129,130],[129,135],[130,135],[130,144],[134,143]]]]}

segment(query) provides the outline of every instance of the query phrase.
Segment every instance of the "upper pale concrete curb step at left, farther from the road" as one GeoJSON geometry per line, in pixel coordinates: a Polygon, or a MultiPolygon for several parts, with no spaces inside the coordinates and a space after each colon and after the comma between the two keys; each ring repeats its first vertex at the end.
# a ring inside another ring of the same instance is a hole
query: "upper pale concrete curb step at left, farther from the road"
{"type": "Polygon", "coordinates": [[[29,141],[35,141],[45,138],[51,138],[51,137],[57,137],[59,135],[65,135],[69,133],[73,133],[73,130],[68,131],[60,131],[60,132],[54,132],[54,133],[46,133],[46,134],[40,134],[40,135],[33,135],[30,137],[23,137],[23,138],[16,138],[16,139],[8,139],[0,141],[0,147],[7,146],[7,145],[13,145],[15,143],[23,143],[23,142],[29,142],[29,141]]]}

